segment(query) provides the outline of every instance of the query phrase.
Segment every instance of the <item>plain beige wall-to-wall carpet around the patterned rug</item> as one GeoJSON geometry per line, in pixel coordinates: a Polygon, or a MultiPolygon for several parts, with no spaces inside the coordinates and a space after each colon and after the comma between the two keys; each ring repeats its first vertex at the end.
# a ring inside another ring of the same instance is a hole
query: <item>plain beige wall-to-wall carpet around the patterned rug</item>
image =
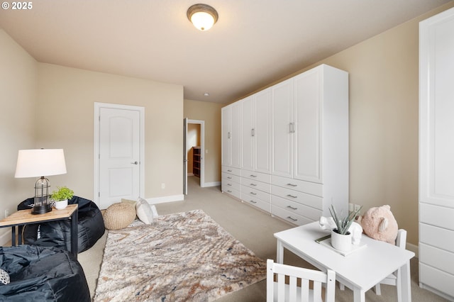
{"type": "MultiPolygon", "coordinates": [[[[276,239],[273,234],[293,226],[222,194],[219,187],[201,188],[198,181],[197,177],[189,177],[189,192],[185,196],[185,200],[158,204],[156,206],[158,213],[166,215],[201,208],[228,233],[252,250],[255,255],[264,260],[268,258],[276,260],[276,239]]],[[[92,296],[94,296],[105,244],[106,234],[96,242],[94,247],[79,254],[79,262],[84,267],[92,296]]],[[[284,252],[284,263],[311,268],[309,264],[287,250],[284,252]]],[[[446,301],[430,291],[419,288],[418,259],[411,259],[410,263],[412,301],[446,301]]],[[[265,280],[223,296],[216,302],[255,301],[266,301],[265,280]]],[[[353,292],[350,289],[341,291],[336,288],[336,301],[353,301],[353,292]]],[[[382,285],[382,295],[377,296],[374,291],[367,291],[366,301],[397,301],[397,290],[395,286],[382,285]]]]}

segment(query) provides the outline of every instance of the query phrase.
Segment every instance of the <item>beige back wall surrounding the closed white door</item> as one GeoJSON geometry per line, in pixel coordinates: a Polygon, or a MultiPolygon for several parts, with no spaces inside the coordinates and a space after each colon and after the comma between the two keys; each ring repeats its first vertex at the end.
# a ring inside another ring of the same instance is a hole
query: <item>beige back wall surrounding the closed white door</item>
{"type": "Polygon", "coordinates": [[[145,107],[143,197],[182,194],[182,86],[43,63],[38,79],[38,143],[63,148],[67,161],[55,186],[93,198],[94,103],[101,102],[145,107]]]}

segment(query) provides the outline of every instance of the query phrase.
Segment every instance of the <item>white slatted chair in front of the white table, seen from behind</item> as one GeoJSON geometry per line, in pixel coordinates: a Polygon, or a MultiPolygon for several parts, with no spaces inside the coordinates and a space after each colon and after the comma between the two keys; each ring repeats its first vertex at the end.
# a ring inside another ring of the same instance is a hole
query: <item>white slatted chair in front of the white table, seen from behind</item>
{"type": "Polygon", "coordinates": [[[331,269],[324,273],[267,260],[267,302],[322,301],[322,284],[326,287],[325,301],[334,302],[336,273],[331,269]],[[285,284],[285,276],[289,276],[289,284],[285,284]],[[301,280],[301,287],[297,286],[297,279],[301,280]],[[313,281],[313,289],[309,289],[309,281],[313,281]]]}

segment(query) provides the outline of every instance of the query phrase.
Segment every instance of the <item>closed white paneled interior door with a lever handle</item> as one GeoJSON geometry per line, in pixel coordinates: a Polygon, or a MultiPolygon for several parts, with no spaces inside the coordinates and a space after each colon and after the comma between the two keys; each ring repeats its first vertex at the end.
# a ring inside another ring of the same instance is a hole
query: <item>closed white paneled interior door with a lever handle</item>
{"type": "Polygon", "coordinates": [[[141,115],[129,108],[99,108],[100,208],[143,194],[141,115]]]}

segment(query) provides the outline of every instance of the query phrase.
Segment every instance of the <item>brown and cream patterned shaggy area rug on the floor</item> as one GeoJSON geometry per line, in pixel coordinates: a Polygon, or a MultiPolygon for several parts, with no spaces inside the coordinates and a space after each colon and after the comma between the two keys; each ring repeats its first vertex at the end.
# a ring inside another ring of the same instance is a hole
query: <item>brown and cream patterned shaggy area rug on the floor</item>
{"type": "Polygon", "coordinates": [[[266,262],[201,210],[110,230],[94,301],[214,301],[266,278],[266,262]]]}

